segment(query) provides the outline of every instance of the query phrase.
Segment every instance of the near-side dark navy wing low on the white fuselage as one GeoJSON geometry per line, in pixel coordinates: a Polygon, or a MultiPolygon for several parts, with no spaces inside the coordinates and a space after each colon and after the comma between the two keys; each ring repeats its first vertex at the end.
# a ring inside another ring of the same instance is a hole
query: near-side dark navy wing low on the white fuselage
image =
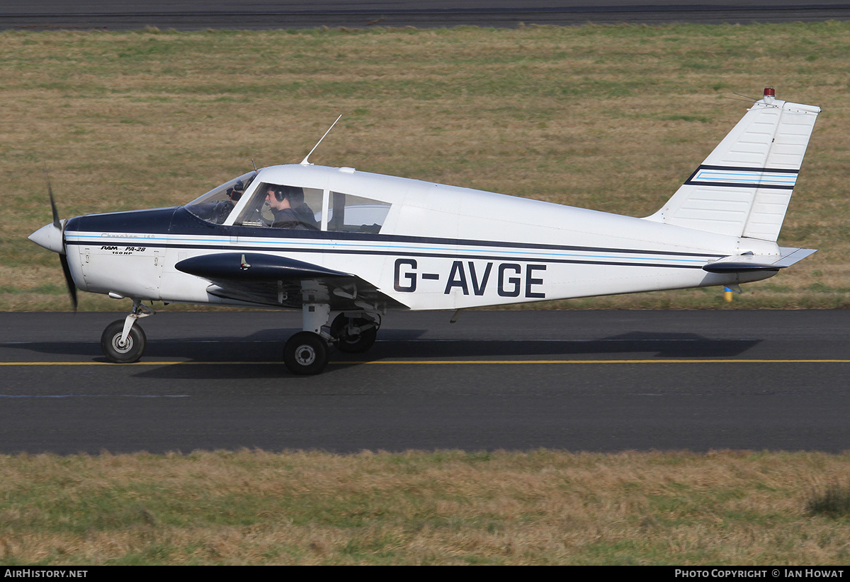
{"type": "Polygon", "coordinates": [[[269,307],[326,303],[331,310],[405,309],[364,279],[323,266],[260,253],[215,253],[181,260],[178,271],[207,279],[207,293],[269,307]]]}

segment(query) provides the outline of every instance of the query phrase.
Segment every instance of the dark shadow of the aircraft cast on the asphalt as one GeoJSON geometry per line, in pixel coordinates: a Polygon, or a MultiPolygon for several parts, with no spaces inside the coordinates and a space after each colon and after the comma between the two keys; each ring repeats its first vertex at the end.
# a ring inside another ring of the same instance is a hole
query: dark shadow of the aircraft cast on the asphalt
{"type": "MultiPolygon", "coordinates": [[[[630,360],[630,359],[690,359],[734,358],[751,350],[760,339],[707,339],[696,333],[629,332],[587,341],[576,340],[468,340],[416,339],[422,330],[405,330],[392,334],[392,339],[378,341],[365,354],[346,354],[334,351],[331,367],[355,367],[370,361],[383,360],[630,360]],[[344,363],[343,363],[344,362],[344,363]]],[[[245,378],[289,375],[282,366],[283,340],[286,330],[280,330],[275,341],[263,332],[242,339],[163,339],[150,340],[144,361],[190,361],[193,363],[239,362],[221,367],[144,367],[139,376],[157,378],[245,378]],[[277,362],[280,362],[278,367],[277,362]],[[258,367],[258,363],[270,364],[258,367]],[[250,368],[250,372],[246,371],[250,368]],[[264,369],[260,369],[264,368],[264,369]]],[[[95,342],[44,342],[5,344],[0,349],[20,349],[45,355],[68,356],[80,361],[106,361],[95,342]]]]}

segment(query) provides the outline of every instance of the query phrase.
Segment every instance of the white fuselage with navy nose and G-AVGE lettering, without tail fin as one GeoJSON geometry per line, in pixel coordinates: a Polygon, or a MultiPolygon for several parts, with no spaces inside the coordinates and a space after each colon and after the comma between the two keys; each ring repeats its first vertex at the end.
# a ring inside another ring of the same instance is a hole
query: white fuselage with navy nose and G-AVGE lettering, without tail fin
{"type": "Polygon", "coordinates": [[[324,182],[326,198],[366,192],[389,210],[380,232],[216,224],[184,207],[78,216],[65,226],[75,283],[140,299],[258,305],[209,294],[209,281],[176,265],[207,254],[261,253],[356,273],[410,309],[448,310],[744,283],[776,271],[702,267],[748,250],[779,256],[775,243],[350,169],[275,166],[254,182],[271,181],[324,182]]]}

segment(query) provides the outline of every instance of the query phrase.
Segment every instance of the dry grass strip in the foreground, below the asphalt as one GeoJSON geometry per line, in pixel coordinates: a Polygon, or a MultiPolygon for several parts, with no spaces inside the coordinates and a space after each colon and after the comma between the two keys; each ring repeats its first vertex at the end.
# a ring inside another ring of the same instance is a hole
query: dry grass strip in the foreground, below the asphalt
{"type": "Polygon", "coordinates": [[[2,456],[0,563],[847,564],[814,453],[2,456]]]}

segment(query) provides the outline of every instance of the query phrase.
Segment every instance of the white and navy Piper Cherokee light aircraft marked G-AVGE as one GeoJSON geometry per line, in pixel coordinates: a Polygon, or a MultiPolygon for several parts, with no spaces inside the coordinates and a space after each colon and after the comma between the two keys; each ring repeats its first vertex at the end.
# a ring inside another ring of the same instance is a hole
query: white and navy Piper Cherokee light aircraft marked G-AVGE
{"type": "Polygon", "coordinates": [[[30,238],[59,253],[75,308],[75,286],[133,299],[101,338],[110,361],[144,353],[137,320],[153,310],[142,301],[238,305],[300,309],[303,331],[286,342],[284,361],[314,374],[330,346],[368,350],[388,310],[773,277],[815,252],[776,240],[819,111],[765,89],[646,218],[312,165],[308,154],[176,208],[59,221],[51,193],[54,221],[30,238]]]}

